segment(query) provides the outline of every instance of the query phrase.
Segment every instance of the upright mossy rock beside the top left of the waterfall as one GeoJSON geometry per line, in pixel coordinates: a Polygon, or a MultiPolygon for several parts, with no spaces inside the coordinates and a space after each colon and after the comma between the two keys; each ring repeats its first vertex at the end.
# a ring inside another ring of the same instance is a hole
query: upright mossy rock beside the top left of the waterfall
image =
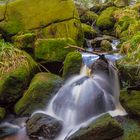
{"type": "Polygon", "coordinates": [[[80,73],[82,55],[79,52],[71,52],[64,61],[63,77],[66,79],[80,73]]]}

